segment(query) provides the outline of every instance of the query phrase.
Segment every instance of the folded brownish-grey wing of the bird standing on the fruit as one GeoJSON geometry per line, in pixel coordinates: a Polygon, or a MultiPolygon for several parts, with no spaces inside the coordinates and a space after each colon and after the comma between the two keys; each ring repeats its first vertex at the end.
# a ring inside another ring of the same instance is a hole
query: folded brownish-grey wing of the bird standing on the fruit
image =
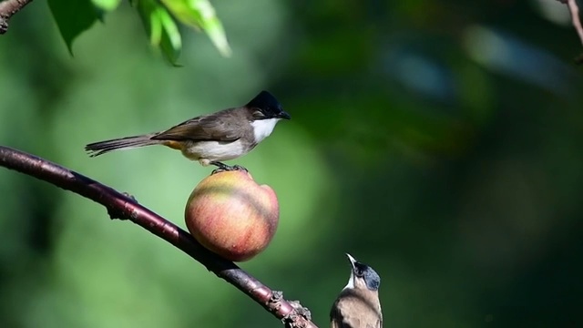
{"type": "Polygon", "coordinates": [[[169,128],[152,137],[155,140],[173,141],[224,141],[231,142],[239,139],[245,130],[246,118],[240,116],[224,116],[225,111],[191,118],[179,125],[169,128]],[[219,114],[223,114],[218,118],[219,114]]]}

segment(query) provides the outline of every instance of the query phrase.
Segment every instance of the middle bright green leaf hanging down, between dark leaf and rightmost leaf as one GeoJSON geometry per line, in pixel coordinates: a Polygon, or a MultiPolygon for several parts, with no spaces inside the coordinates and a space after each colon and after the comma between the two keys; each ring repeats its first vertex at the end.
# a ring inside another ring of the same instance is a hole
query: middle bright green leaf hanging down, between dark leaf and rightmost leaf
{"type": "Polygon", "coordinates": [[[170,64],[178,66],[182,38],[179,27],[168,10],[155,0],[138,0],[136,5],[142,23],[148,32],[150,44],[159,48],[170,64]]]}

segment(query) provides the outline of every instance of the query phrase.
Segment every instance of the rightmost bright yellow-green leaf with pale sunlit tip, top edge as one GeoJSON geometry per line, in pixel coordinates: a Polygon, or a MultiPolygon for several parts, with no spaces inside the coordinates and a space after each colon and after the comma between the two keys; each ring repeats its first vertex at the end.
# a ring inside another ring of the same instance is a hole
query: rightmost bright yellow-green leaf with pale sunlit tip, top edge
{"type": "Polygon", "coordinates": [[[208,0],[161,0],[183,24],[203,29],[222,56],[231,50],[225,30],[208,0]]]}

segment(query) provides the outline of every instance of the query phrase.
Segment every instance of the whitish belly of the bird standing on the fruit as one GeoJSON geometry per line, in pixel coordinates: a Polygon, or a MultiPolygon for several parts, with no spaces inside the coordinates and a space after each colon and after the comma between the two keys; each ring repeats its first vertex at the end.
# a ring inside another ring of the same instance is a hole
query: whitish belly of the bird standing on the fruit
{"type": "Polygon", "coordinates": [[[187,143],[182,154],[192,160],[229,160],[245,155],[251,149],[251,145],[245,145],[240,139],[232,142],[198,141],[187,143]]]}

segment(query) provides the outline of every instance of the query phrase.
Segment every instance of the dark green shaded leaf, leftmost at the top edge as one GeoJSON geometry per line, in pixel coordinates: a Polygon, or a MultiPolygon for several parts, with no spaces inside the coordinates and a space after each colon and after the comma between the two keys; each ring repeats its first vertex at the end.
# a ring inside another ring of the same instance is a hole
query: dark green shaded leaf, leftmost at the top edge
{"type": "Polygon", "coordinates": [[[73,41],[100,19],[100,13],[90,0],[48,0],[56,26],[73,56],[73,41]]]}

